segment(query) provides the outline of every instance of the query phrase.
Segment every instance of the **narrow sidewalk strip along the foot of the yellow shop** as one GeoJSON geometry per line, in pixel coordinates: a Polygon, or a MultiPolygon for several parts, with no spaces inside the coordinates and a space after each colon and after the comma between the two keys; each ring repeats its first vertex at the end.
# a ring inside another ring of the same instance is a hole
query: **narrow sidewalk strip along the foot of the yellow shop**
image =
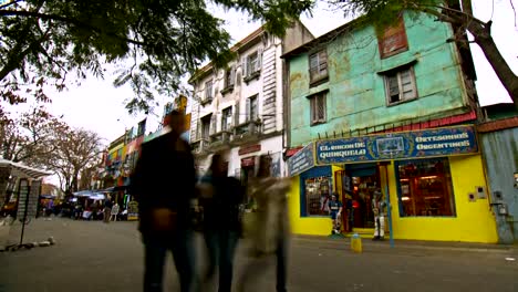
{"type": "MultiPolygon", "coordinates": [[[[293,243],[317,244],[319,248],[332,248],[350,250],[351,239],[335,236],[303,236],[293,234],[293,243]]],[[[505,246],[497,243],[474,243],[453,241],[424,241],[424,240],[394,240],[394,248],[391,248],[388,239],[373,241],[362,239],[364,251],[391,251],[391,250],[427,250],[427,251],[458,251],[458,252],[493,252],[518,255],[518,244],[505,246]]]]}

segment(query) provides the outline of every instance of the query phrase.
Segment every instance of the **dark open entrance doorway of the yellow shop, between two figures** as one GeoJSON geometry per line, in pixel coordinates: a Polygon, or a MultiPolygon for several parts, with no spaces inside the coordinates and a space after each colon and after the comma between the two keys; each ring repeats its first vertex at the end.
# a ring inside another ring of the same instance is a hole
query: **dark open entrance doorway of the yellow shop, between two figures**
{"type": "Polygon", "coordinates": [[[372,199],[381,179],[376,164],[346,165],[352,181],[353,228],[374,228],[372,199]]]}

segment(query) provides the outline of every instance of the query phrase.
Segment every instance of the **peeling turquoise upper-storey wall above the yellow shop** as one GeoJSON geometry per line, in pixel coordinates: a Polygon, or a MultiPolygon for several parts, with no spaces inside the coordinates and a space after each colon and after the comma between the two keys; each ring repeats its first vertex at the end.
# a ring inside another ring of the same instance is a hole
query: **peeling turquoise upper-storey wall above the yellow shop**
{"type": "Polygon", "coordinates": [[[429,17],[405,15],[408,50],[381,59],[373,27],[346,31],[327,45],[329,81],[309,84],[309,54],[289,62],[291,147],[322,137],[405,119],[428,121],[468,112],[467,93],[452,29],[429,17]],[[387,106],[382,71],[415,62],[418,98],[387,106]],[[308,96],[329,90],[327,123],[311,126],[308,96]]]}

